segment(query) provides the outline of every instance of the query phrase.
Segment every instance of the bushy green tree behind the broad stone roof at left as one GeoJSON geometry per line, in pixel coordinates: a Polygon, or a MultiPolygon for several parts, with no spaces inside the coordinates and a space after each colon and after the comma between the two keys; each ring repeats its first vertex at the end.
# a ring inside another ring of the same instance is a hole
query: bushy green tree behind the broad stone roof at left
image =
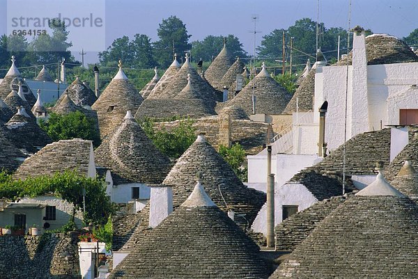
{"type": "Polygon", "coordinates": [[[100,135],[95,129],[95,120],[87,118],[84,113],[75,111],[65,115],[51,113],[49,119],[40,121],[40,127],[47,132],[53,141],[71,138],[83,138],[100,145],[100,135]]]}

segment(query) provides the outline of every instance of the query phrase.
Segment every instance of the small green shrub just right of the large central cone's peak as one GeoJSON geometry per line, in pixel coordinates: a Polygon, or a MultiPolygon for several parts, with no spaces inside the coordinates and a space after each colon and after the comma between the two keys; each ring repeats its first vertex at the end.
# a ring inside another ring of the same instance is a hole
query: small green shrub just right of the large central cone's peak
{"type": "Polygon", "coordinates": [[[235,143],[228,148],[224,145],[219,146],[219,154],[224,157],[225,161],[228,162],[231,166],[235,175],[240,177],[242,182],[248,180],[248,169],[242,166],[242,163],[245,161],[245,150],[242,148],[242,145],[235,143]]]}

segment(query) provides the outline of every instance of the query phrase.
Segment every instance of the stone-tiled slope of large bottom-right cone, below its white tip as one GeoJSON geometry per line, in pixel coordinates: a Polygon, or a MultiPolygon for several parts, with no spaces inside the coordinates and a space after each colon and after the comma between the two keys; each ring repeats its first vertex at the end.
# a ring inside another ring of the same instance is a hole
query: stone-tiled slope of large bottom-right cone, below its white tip
{"type": "Polygon", "coordinates": [[[355,196],[339,205],[270,278],[417,278],[418,205],[355,196]]]}

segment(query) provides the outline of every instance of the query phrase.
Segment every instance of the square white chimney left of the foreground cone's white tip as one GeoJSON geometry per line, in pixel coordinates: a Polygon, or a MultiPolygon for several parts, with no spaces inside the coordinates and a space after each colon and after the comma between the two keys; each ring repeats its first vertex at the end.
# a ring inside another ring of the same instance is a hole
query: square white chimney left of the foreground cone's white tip
{"type": "Polygon", "coordinates": [[[151,228],[157,227],[173,212],[173,189],[171,186],[150,186],[150,220],[151,228]]]}

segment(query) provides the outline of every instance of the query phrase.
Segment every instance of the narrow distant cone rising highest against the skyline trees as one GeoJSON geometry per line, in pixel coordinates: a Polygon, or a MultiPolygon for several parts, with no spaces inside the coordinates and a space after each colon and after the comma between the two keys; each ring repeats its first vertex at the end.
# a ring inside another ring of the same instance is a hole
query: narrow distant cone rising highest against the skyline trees
{"type": "MultiPolygon", "coordinates": [[[[221,80],[228,72],[229,68],[233,65],[234,59],[229,53],[228,48],[226,47],[226,42],[224,41],[224,47],[221,52],[216,56],[213,62],[208,67],[208,70],[205,72],[206,80],[216,88],[217,90],[222,90],[221,80]]],[[[241,73],[241,72],[240,72],[241,73]]]]}

